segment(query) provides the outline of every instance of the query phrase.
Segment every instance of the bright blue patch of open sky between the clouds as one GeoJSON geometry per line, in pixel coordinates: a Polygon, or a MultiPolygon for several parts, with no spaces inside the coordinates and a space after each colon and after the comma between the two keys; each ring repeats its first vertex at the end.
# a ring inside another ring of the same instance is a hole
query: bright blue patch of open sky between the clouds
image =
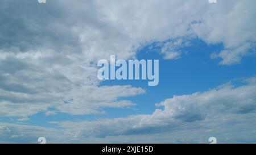
{"type": "MultiPolygon", "coordinates": [[[[221,51],[223,46],[207,45],[199,39],[193,40],[192,45],[181,49],[183,54],[177,60],[164,60],[156,49],[148,45],[138,51],[137,58],[159,59],[159,85],[147,86],[147,80],[106,80],[101,85],[131,85],[143,87],[146,94],[127,97],[137,105],[130,109],[119,110],[108,108],[108,115],[119,116],[135,114],[151,114],[155,110],[155,103],[172,98],[173,95],[192,94],[197,91],[207,91],[233,79],[253,77],[256,75],[255,56],[244,57],[241,64],[219,65],[218,59],[210,58],[212,52],[221,51]]],[[[160,47],[159,47],[160,51],[160,47]]],[[[117,57],[118,59],[118,57],[117,57]]],[[[239,81],[235,81],[237,84],[239,81]]]]}

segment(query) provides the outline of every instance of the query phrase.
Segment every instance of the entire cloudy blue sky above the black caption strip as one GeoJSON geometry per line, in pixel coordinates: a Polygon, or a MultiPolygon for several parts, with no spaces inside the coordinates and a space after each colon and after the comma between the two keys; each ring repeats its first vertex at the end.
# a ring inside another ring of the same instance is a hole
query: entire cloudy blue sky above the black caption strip
{"type": "Polygon", "coordinates": [[[256,1],[1,0],[0,143],[256,143],[256,1]],[[97,62],[159,60],[159,84],[97,62]]]}

